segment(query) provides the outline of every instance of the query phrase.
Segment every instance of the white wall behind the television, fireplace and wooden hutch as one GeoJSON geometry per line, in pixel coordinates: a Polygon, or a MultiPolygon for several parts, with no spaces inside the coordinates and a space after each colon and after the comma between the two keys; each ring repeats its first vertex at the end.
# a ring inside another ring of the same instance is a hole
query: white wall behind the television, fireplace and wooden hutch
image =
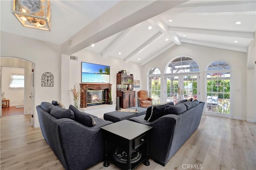
{"type": "MultiPolygon", "coordinates": [[[[62,102],[67,107],[73,104],[72,94],[69,92],[70,88],[74,84],[81,83],[81,62],[95,63],[110,66],[110,84],[112,84],[112,100],[116,104],[116,74],[118,71],[126,70],[129,74],[134,75],[135,80],[141,80],[142,67],[138,63],[127,62],[115,58],[115,57],[105,57],[103,58],[99,53],[94,53],[91,51],[81,50],[77,53],[72,54],[78,57],[78,61],[73,61],[69,59],[69,56],[62,55],[62,84],[69,84],[69,88],[65,85],[62,88],[62,102]],[[68,59],[67,59],[68,58],[68,59]],[[69,63],[69,64],[68,64],[69,63]],[[69,68],[68,68],[69,65],[69,68]],[[63,68],[64,67],[64,68],[63,68]],[[70,74],[67,75],[66,70],[69,69],[70,74]],[[65,70],[65,71],[64,71],[65,70]],[[66,78],[66,77],[69,77],[66,78]],[[63,95],[65,94],[65,96],[63,95]],[[69,101],[65,100],[69,96],[69,101]],[[65,102],[64,102],[65,100],[65,102]]],[[[139,88],[134,90],[140,90],[139,88]]],[[[137,96],[136,96],[137,98],[137,96]]],[[[137,103],[137,99],[136,99],[137,103]]]]}

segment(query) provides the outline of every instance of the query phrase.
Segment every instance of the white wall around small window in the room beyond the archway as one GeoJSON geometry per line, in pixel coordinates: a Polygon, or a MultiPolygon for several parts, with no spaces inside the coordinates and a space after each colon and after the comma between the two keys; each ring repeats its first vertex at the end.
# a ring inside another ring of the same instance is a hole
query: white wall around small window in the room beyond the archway
{"type": "Polygon", "coordinates": [[[2,67],[2,92],[4,92],[4,98],[10,100],[10,107],[24,105],[24,88],[9,88],[11,73],[24,74],[24,68],[2,67]]]}

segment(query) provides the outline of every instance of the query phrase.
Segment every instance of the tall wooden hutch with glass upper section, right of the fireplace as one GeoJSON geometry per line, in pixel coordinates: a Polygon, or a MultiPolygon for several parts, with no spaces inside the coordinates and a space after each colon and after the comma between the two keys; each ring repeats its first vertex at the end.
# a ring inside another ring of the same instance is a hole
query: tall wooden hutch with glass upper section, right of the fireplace
{"type": "Polygon", "coordinates": [[[126,70],[118,72],[116,74],[116,102],[119,102],[119,107],[123,109],[135,107],[135,92],[133,91],[133,75],[127,75],[126,70]]]}

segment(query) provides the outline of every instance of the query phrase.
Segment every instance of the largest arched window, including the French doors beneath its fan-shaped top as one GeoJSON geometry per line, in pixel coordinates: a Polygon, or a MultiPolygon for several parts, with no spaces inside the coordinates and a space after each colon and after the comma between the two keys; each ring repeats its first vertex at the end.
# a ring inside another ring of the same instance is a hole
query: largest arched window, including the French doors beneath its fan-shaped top
{"type": "Polygon", "coordinates": [[[199,66],[188,56],[179,56],[167,65],[165,71],[166,102],[198,98],[199,66]]]}

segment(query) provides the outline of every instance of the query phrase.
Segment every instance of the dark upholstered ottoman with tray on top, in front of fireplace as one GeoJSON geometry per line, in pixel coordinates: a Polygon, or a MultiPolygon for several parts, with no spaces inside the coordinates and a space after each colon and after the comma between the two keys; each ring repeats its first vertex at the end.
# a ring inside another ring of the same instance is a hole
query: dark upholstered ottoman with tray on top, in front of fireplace
{"type": "Polygon", "coordinates": [[[113,123],[121,121],[121,120],[128,120],[131,117],[136,117],[140,115],[145,115],[147,108],[144,107],[130,107],[127,109],[138,109],[138,113],[132,113],[132,112],[124,112],[124,111],[111,111],[108,113],[104,113],[104,120],[112,121],[113,123]]]}

